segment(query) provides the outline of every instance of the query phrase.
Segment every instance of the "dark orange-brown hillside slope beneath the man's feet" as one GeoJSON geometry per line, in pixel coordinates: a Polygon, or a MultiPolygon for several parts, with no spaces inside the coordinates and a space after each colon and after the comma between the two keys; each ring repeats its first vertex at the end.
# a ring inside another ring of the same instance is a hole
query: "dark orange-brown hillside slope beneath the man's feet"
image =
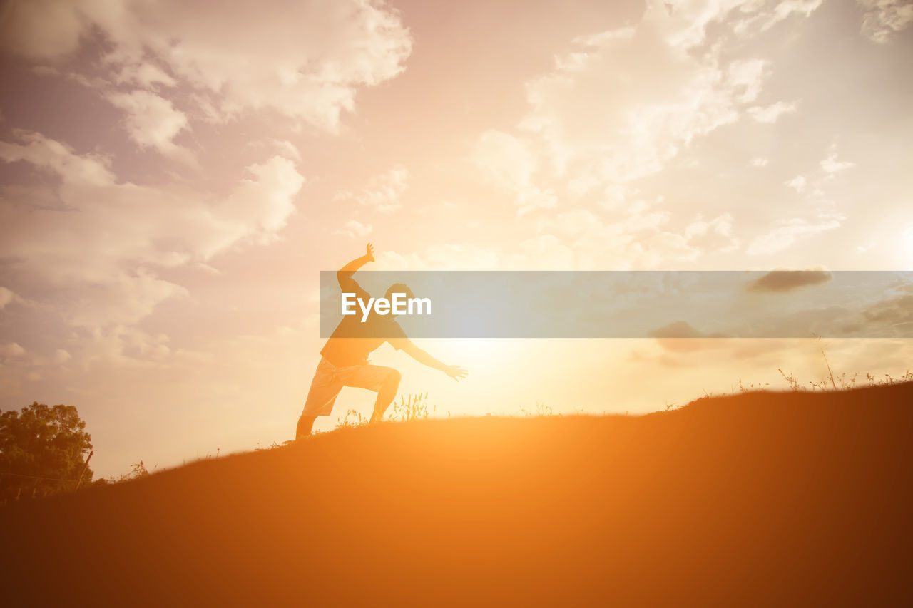
{"type": "Polygon", "coordinates": [[[8,606],[913,600],[913,384],[318,435],[0,508],[8,606]]]}

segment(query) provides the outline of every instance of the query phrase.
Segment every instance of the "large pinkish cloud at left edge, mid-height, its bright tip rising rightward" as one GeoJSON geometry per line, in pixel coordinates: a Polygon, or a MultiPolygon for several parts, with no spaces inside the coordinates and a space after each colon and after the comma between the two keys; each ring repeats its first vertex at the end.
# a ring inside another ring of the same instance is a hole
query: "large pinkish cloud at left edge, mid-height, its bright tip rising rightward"
{"type": "Polygon", "coordinates": [[[276,239],[304,182],[291,161],[273,156],[249,165],[220,199],[176,185],[120,182],[103,157],[79,155],[39,133],[16,136],[19,142],[0,142],[0,159],[51,173],[60,205],[0,200],[0,222],[11,227],[0,257],[16,259],[16,272],[53,288],[60,314],[82,327],[130,324],[186,294],[159,278],[160,268],[276,239]]]}

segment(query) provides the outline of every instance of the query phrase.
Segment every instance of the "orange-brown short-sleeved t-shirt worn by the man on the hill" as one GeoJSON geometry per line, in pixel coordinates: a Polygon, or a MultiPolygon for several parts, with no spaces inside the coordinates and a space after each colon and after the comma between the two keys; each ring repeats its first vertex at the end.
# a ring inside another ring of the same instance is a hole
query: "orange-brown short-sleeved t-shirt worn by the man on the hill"
{"type": "MultiPolygon", "coordinates": [[[[367,302],[371,298],[368,292],[354,280],[352,283],[355,297],[367,302]]],[[[403,328],[393,317],[374,314],[372,311],[362,323],[362,313],[359,310],[358,314],[342,318],[320,354],[337,367],[362,365],[368,362],[368,355],[383,342],[389,341],[394,349],[399,349],[394,340],[405,337],[403,328]]]]}

